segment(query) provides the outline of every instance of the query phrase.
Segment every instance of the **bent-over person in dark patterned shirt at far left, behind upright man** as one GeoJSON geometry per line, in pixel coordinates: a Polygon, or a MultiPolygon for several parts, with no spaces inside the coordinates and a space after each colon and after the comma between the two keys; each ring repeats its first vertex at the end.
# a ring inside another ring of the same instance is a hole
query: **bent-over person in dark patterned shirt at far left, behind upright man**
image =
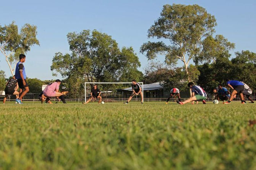
{"type": "Polygon", "coordinates": [[[5,104],[8,95],[16,95],[16,99],[19,98],[19,92],[17,91],[18,88],[18,81],[15,79],[14,75],[13,78],[9,79],[5,84],[5,97],[3,98],[3,104],[5,104]]]}

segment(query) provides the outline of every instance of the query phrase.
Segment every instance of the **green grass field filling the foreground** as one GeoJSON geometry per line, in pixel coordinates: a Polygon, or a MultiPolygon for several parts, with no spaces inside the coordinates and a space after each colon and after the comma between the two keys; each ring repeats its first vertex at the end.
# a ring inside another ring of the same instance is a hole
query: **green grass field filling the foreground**
{"type": "Polygon", "coordinates": [[[256,104],[0,105],[0,169],[256,169],[256,104]]]}

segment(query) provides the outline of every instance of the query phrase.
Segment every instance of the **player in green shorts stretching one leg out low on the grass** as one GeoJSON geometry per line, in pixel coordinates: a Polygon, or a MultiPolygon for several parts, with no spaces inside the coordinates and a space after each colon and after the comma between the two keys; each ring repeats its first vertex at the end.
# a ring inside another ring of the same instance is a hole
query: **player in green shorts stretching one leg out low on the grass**
{"type": "Polygon", "coordinates": [[[190,87],[191,91],[192,91],[192,97],[190,97],[189,99],[185,100],[184,102],[180,102],[180,101],[176,101],[178,104],[183,105],[185,103],[189,103],[191,102],[191,104],[194,104],[194,101],[198,102],[199,100],[206,100],[206,92],[204,91],[204,89],[200,86],[195,86],[193,82],[189,82],[188,83],[188,87],[190,87]]]}

